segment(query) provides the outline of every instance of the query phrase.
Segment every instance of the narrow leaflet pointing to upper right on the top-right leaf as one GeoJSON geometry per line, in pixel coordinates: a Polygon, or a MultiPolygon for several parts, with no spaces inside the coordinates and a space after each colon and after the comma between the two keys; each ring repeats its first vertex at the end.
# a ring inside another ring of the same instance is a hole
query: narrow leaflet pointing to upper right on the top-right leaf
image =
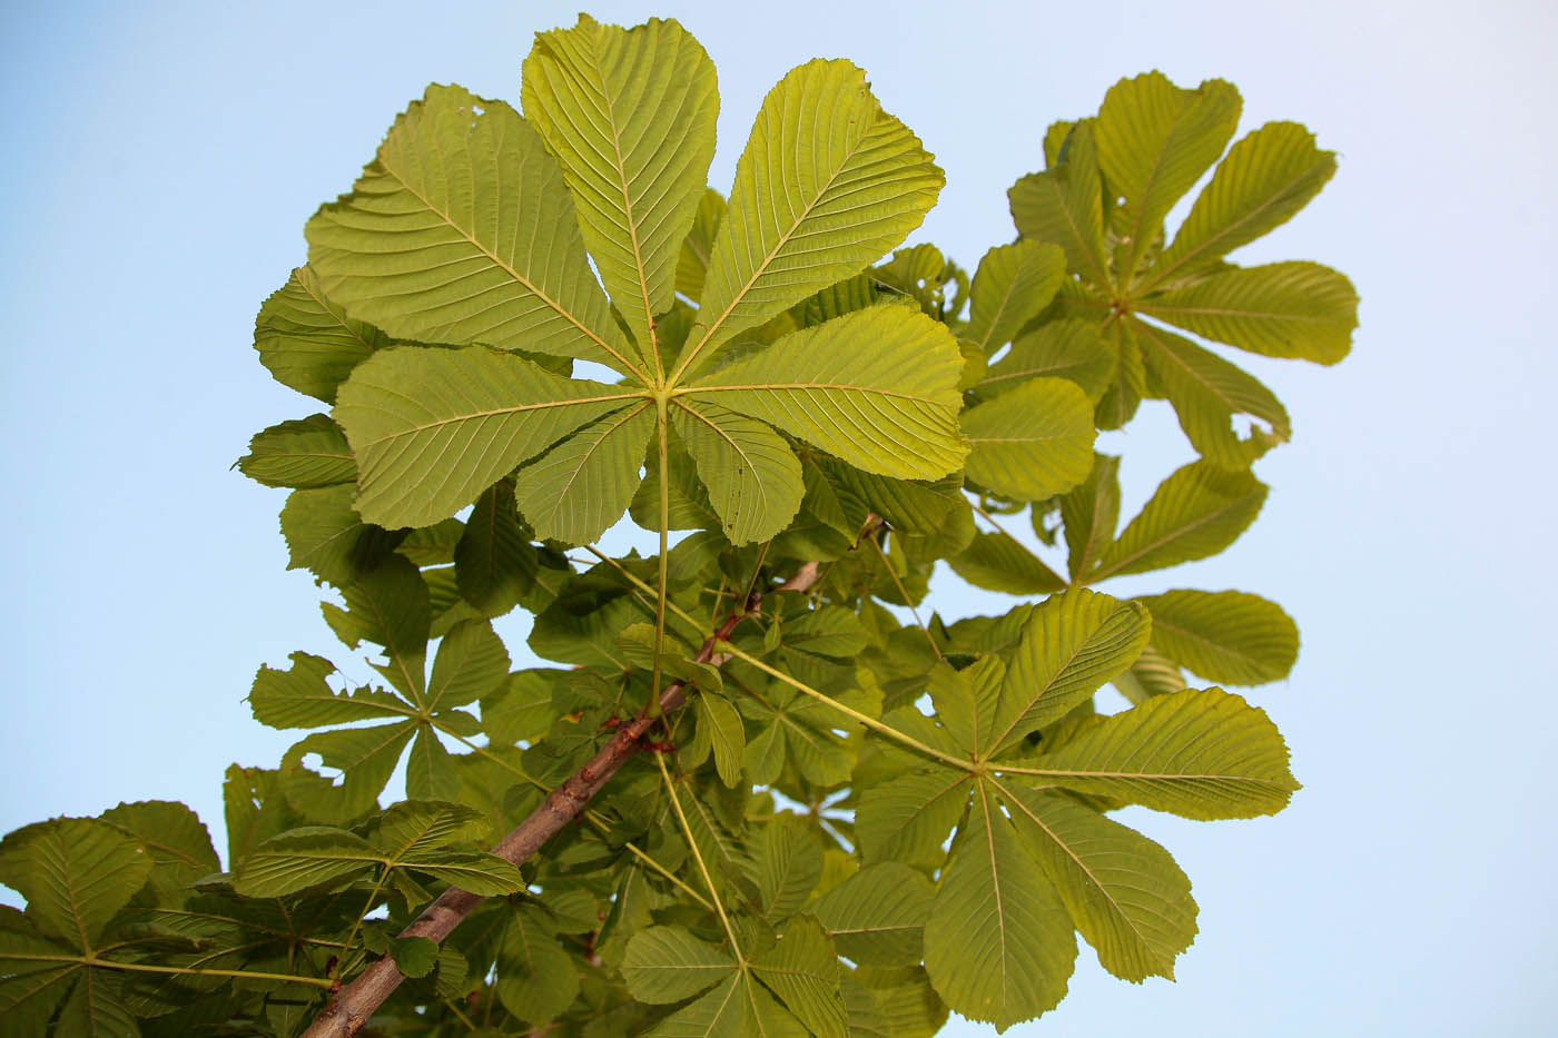
{"type": "Polygon", "coordinates": [[[1190,206],[1139,293],[1209,270],[1240,245],[1287,223],[1337,171],[1334,151],[1298,123],[1267,123],[1240,139],[1190,206]]]}

